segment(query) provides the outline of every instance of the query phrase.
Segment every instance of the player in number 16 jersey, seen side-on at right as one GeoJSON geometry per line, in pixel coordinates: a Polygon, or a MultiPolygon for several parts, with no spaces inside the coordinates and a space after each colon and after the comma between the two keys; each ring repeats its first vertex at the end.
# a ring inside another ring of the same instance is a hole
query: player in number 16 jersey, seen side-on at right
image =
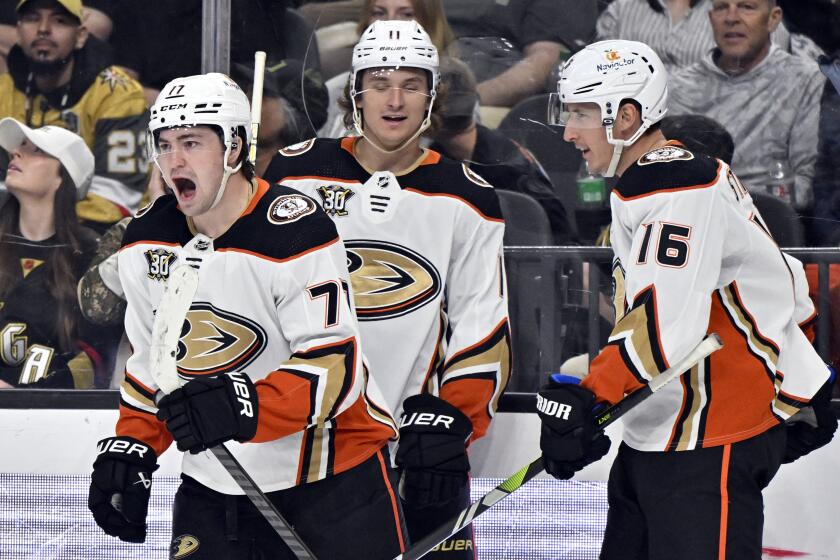
{"type": "Polygon", "coordinates": [[[569,478],[607,451],[591,410],[615,403],[711,332],[712,354],[627,414],[609,477],[600,558],[761,558],[762,489],[783,461],[831,439],[831,380],[798,322],[813,314],[801,264],[784,256],[749,193],[720,160],[668,141],[656,53],[603,41],[562,68],[549,121],[610,195],[616,324],[577,384],[552,378],[540,397],[547,470],[569,478]],[[804,290],[807,293],[807,289],[804,290]],[[816,426],[785,421],[813,408],[816,426]],[[795,426],[795,424],[794,424],[795,426]]]}

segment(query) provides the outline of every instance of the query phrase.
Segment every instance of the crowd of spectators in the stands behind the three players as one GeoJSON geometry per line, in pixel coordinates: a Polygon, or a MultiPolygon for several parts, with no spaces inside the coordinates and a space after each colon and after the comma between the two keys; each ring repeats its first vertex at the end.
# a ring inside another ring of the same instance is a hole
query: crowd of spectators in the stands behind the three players
{"type": "MultiPolygon", "coordinates": [[[[154,4],[86,0],[82,10],[78,0],[0,3],[0,118],[68,129],[93,155],[89,184],[76,185],[78,227],[56,216],[55,227],[27,229],[21,209],[35,208],[33,195],[20,178],[6,182],[0,387],[114,386],[124,307],[108,257],[126,219],[160,194],[149,189],[157,183],[145,153],[148,107],[163,84],[201,70],[202,0],[154,4]],[[9,305],[39,275],[36,299],[55,302],[61,318],[55,332],[26,316],[35,311],[9,305]],[[80,305],[67,294],[83,277],[80,305]],[[21,324],[29,331],[8,331],[21,324]],[[27,340],[58,341],[52,369],[33,376],[27,340]]],[[[609,184],[589,177],[562,130],[545,125],[563,60],[600,39],[643,41],[657,51],[671,74],[663,124],[669,138],[731,162],[781,245],[840,244],[836,2],[231,0],[230,75],[249,95],[253,53],[268,57],[258,174],[284,146],[356,133],[339,99],[353,45],[379,19],[416,19],[444,56],[441,119],[426,133],[427,145],[468,162],[497,189],[536,201],[554,244],[593,245],[608,226],[609,184]]],[[[3,147],[0,177],[9,169],[19,174],[18,147],[3,147]]],[[[64,183],[60,188],[70,189],[64,183]]],[[[51,218],[53,207],[67,206],[60,188],[49,194],[56,197],[47,205],[51,218]]],[[[840,278],[832,277],[832,290],[835,283],[840,278]]],[[[840,309],[834,315],[840,320],[840,309]]]]}

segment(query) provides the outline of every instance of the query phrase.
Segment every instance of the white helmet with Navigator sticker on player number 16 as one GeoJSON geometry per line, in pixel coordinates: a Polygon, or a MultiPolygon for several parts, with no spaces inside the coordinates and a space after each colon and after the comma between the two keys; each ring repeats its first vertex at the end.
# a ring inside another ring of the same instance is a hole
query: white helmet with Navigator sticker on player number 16
{"type": "Polygon", "coordinates": [[[615,173],[624,146],[638,140],[668,111],[668,73],[659,55],[638,41],[609,40],[586,46],[569,58],[560,70],[557,93],[549,99],[548,123],[566,123],[569,103],[595,103],[601,109],[601,125],[607,140],[615,146],[613,161],[605,173],[615,173]],[[612,127],[624,101],[635,101],[642,124],[626,140],[613,138],[612,127]]]}

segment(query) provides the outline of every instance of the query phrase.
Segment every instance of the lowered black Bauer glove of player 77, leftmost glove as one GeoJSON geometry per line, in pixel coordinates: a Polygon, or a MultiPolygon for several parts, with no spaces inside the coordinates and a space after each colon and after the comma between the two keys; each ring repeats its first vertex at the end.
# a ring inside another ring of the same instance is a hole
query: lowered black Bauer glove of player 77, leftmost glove
{"type": "Polygon", "coordinates": [[[130,437],[105,438],[97,447],[88,509],[107,534],[126,542],[143,542],[157,454],[130,437]]]}

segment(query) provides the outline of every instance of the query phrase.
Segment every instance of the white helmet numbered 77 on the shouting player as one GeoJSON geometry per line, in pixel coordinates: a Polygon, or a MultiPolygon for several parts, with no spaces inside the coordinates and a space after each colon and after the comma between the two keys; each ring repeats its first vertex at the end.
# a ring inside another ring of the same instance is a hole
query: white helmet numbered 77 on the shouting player
{"type": "Polygon", "coordinates": [[[221,130],[225,175],[213,206],[218,204],[228,178],[242,165],[239,163],[230,167],[227,164],[235,148],[234,136],[239,136],[244,129],[245,138],[240,138],[240,142],[244,142],[244,152],[251,142],[251,104],[248,96],[236,82],[218,72],[186,76],[167,83],[150,112],[146,147],[149,158],[156,164],[161,155],[158,144],[160,131],[189,126],[210,126],[221,130]]]}

